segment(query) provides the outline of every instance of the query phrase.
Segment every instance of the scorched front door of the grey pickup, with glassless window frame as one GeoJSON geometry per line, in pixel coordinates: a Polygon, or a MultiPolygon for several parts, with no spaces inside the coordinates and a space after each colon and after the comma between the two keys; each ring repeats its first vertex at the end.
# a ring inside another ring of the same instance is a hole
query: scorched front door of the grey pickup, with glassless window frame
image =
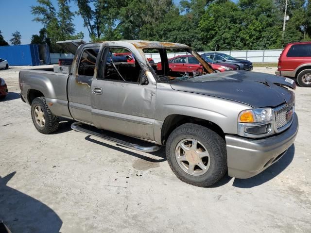
{"type": "MultiPolygon", "coordinates": [[[[128,50],[105,43],[91,85],[94,125],[129,136],[154,140],[156,84],[143,83],[146,61],[134,48],[128,50]],[[121,60],[115,53],[130,52],[135,63],[121,60]],[[144,62],[144,69],[139,63],[144,62]]],[[[148,79],[147,79],[148,80],[148,79]]]]}

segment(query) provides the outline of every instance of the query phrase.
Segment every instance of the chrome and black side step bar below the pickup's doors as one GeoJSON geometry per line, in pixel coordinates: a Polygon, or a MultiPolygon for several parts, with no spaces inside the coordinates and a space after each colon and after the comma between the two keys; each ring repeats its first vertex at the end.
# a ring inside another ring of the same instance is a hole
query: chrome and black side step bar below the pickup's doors
{"type": "Polygon", "coordinates": [[[142,151],[142,152],[154,152],[156,150],[160,150],[161,149],[160,145],[154,145],[154,146],[151,146],[151,147],[139,146],[138,144],[126,142],[126,141],[123,141],[121,139],[118,139],[118,138],[106,135],[104,133],[97,133],[97,132],[94,132],[94,131],[91,131],[91,130],[84,129],[83,127],[81,127],[81,125],[84,125],[84,124],[81,123],[81,122],[74,122],[74,123],[71,124],[71,129],[73,129],[74,131],[78,131],[78,132],[81,132],[81,133],[86,133],[88,135],[92,135],[92,136],[95,136],[95,137],[102,138],[104,140],[107,140],[109,142],[113,142],[113,143],[119,144],[119,145],[121,145],[123,147],[129,148],[129,149],[132,149],[132,150],[138,150],[138,151],[142,151]]]}

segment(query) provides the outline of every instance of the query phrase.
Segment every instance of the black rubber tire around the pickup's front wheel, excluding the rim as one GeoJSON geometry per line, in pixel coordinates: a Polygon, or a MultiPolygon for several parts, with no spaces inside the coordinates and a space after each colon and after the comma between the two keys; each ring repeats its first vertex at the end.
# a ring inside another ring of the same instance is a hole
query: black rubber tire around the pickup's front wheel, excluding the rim
{"type": "Polygon", "coordinates": [[[183,124],[176,128],[166,143],[167,161],[175,175],[183,182],[208,187],[218,182],[227,171],[227,155],[225,140],[214,131],[196,124],[183,124]],[[201,142],[210,156],[210,166],[206,173],[193,176],[185,172],[177,163],[175,149],[177,144],[186,138],[201,142]]]}

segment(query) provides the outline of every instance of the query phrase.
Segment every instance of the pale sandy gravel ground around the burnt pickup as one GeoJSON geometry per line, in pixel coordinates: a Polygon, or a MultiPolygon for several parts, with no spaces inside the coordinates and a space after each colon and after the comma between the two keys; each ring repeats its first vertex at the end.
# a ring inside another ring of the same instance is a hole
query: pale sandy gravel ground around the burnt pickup
{"type": "Polygon", "coordinates": [[[311,88],[297,87],[299,134],[279,162],[199,188],[174,176],[164,150],[128,150],[70,122],[38,133],[19,99],[19,69],[0,70],[10,91],[0,102],[0,220],[12,233],[311,232],[311,88]]]}

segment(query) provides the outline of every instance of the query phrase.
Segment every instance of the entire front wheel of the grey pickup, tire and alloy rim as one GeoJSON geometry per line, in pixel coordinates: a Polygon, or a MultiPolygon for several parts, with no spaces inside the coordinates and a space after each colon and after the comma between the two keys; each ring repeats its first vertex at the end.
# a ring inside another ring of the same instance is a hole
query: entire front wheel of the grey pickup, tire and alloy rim
{"type": "Polygon", "coordinates": [[[167,140],[166,157],[175,175],[195,186],[210,186],[227,170],[225,140],[201,125],[176,128],[167,140]]]}

